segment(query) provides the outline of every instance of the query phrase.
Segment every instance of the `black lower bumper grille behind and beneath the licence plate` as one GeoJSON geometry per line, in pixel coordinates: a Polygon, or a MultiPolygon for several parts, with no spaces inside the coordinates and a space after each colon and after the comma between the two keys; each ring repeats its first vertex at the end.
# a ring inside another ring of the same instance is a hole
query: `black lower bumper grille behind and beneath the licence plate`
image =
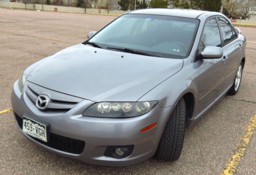
{"type": "MultiPolygon", "coordinates": [[[[22,118],[20,118],[17,114],[15,114],[15,118],[18,123],[18,126],[20,127],[20,129],[22,129],[22,124],[23,124],[22,118]]],[[[65,151],[65,152],[70,152],[72,154],[81,154],[85,145],[84,141],[59,136],[53,133],[50,133],[50,141],[47,143],[39,139],[36,139],[34,137],[31,137],[31,138],[51,148],[65,151]]]]}

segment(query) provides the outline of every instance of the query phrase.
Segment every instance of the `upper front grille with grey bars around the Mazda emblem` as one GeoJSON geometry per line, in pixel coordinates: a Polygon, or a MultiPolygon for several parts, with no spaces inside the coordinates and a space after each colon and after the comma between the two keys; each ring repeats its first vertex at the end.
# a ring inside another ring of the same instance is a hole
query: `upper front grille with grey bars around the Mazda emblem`
{"type": "Polygon", "coordinates": [[[27,97],[34,104],[36,103],[37,97],[41,93],[46,93],[46,92],[48,94],[51,94],[51,101],[49,102],[47,109],[44,110],[45,113],[66,113],[71,108],[73,108],[76,104],[78,104],[80,101],[83,100],[78,97],[73,97],[67,94],[62,94],[56,91],[43,88],[31,82],[28,82],[28,86],[25,91],[27,97]],[[67,99],[72,101],[68,101],[67,99]]]}

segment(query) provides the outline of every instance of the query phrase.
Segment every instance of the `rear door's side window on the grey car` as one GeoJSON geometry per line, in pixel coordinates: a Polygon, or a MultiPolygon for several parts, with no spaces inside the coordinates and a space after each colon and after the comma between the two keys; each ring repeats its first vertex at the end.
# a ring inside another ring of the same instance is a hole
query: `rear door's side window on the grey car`
{"type": "Polygon", "coordinates": [[[228,21],[223,17],[218,17],[218,20],[219,20],[224,44],[236,38],[236,34],[234,34],[234,31],[230,26],[230,24],[228,23],[228,21]]]}

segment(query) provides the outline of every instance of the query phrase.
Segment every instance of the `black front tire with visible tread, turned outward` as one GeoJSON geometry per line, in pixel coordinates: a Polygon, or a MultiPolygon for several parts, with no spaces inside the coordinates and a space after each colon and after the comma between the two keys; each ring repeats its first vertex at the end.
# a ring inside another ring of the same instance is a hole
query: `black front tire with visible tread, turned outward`
{"type": "Polygon", "coordinates": [[[179,159],[185,133],[186,104],[183,98],[170,115],[161,136],[155,157],[165,161],[179,159]]]}

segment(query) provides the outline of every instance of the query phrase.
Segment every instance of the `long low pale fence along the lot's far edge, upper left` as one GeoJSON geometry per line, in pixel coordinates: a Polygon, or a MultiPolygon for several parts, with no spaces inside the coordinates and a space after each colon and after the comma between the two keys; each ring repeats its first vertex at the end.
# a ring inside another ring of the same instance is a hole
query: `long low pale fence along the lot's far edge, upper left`
{"type": "MultiPolygon", "coordinates": [[[[25,4],[0,1],[0,7],[25,9],[25,4]]],[[[53,12],[54,8],[57,8],[58,12],[84,13],[84,8],[44,5],[44,11],[52,11],[53,12]]],[[[27,4],[27,9],[42,10],[42,5],[41,4],[27,4]]],[[[109,13],[111,15],[121,15],[125,12],[126,11],[121,11],[121,10],[111,10],[111,11],[109,11],[109,13]]],[[[86,13],[99,14],[99,9],[86,9],[86,13]]],[[[100,14],[108,14],[108,11],[105,10],[105,9],[100,9],[100,14]]]]}

